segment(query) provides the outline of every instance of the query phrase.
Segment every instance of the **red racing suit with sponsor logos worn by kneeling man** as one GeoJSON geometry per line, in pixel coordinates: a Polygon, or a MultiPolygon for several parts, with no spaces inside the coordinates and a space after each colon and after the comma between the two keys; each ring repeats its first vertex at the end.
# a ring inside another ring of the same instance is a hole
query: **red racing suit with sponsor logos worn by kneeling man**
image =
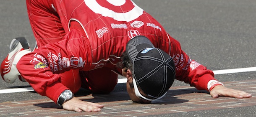
{"type": "Polygon", "coordinates": [[[81,86],[111,92],[121,73],[116,64],[126,43],[138,35],[172,56],[176,79],[200,90],[208,90],[214,79],[131,0],[27,0],[27,7],[40,48],[23,56],[17,69],[37,93],[54,102],[65,89],[77,92],[81,86]]]}

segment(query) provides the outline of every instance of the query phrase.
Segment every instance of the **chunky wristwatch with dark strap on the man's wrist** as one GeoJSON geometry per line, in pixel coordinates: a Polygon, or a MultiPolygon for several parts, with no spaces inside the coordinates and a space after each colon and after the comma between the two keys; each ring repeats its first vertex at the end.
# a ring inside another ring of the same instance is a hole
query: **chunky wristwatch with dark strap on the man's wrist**
{"type": "Polygon", "coordinates": [[[60,96],[59,96],[59,98],[58,98],[58,100],[57,100],[57,104],[58,104],[59,106],[62,106],[62,104],[63,104],[64,102],[67,102],[68,100],[72,99],[73,97],[74,97],[74,94],[71,92],[71,90],[64,90],[64,91],[60,94],[60,96]]]}

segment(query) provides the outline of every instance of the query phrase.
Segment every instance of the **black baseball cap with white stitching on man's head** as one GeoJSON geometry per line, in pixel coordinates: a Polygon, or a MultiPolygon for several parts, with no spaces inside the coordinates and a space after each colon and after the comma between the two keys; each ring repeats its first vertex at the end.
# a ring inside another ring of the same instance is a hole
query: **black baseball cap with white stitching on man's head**
{"type": "Polygon", "coordinates": [[[145,36],[128,41],[126,53],[133,63],[133,86],[137,97],[154,101],[165,96],[175,79],[172,57],[145,36]]]}

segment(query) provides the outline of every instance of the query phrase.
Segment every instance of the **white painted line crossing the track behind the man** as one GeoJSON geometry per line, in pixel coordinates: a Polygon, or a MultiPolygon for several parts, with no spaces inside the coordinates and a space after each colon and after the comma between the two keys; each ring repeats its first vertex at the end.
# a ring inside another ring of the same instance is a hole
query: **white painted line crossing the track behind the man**
{"type": "MultiPolygon", "coordinates": [[[[249,72],[256,71],[256,67],[248,67],[248,68],[238,68],[238,69],[223,69],[223,70],[215,70],[213,73],[216,74],[232,74],[232,73],[240,73],[240,72],[249,72]]],[[[118,79],[118,84],[126,83],[127,79],[118,79]]],[[[17,93],[17,92],[31,92],[34,91],[32,87],[27,88],[15,88],[15,89],[2,89],[0,90],[0,94],[5,93],[17,93]]]]}

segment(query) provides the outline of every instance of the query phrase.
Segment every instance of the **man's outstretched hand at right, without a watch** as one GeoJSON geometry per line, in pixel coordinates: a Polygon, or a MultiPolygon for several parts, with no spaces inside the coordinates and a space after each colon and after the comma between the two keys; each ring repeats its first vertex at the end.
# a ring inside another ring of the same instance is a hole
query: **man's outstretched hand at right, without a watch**
{"type": "Polygon", "coordinates": [[[225,96],[225,97],[235,97],[235,98],[248,98],[251,97],[251,94],[248,94],[243,91],[238,91],[234,89],[226,88],[222,85],[215,86],[211,91],[210,94],[213,98],[218,98],[219,96],[225,96]]]}

